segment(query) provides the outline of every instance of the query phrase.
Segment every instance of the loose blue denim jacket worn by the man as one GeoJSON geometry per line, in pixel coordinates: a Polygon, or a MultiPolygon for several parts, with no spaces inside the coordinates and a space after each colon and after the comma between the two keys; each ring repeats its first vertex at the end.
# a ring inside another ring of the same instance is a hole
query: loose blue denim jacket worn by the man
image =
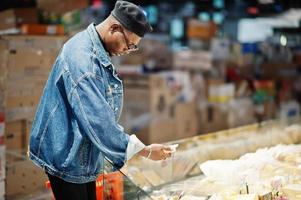
{"type": "Polygon", "coordinates": [[[72,183],[97,179],[107,157],[120,168],[129,135],[118,124],[123,86],[94,24],[60,51],[33,121],[29,158],[72,183]]]}

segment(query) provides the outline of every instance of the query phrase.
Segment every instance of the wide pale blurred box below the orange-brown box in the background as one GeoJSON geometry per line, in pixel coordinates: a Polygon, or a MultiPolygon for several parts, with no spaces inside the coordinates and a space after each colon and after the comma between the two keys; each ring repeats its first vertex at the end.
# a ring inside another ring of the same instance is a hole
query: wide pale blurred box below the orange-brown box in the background
{"type": "Polygon", "coordinates": [[[209,51],[182,50],[173,54],[175,69],[210,70],[212,68],[212,53],[209,51]]]}

